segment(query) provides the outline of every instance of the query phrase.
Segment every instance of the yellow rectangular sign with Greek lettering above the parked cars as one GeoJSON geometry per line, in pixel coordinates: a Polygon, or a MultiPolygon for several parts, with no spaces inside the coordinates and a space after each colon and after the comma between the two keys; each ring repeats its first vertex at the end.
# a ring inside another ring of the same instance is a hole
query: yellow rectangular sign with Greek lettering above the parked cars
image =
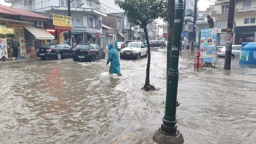
{"type": "Polygon", "coordinates": [[[54,26],[72,26],[72,18],[65,15],[52,14],[52,23],[54,26]]]}

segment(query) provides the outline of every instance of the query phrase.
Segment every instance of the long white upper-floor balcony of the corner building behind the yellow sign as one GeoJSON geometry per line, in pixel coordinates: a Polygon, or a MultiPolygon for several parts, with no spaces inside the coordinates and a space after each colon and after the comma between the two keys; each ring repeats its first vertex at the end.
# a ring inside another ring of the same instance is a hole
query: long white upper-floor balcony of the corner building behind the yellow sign
{"type": "MultiPolygon", "coordinates": [[[[89,14],[101,16],[107,16],[107,9],[103,8],[99,4],[93,2],[87,2],[85,0],[82,1],[73,1],[70,3],[70,10],[73,11],[77,7],[79,7],[76,11],[85,11],[89,14]],[[84,5],[80,6],[81,3],[84,5]]],[[[35,3],[30,6],[24,6],[20,9],[28,10],[28,11],[52,11],[62,10],[67,11],[67,0],[47,0],[40,3],[35,3]]]]}

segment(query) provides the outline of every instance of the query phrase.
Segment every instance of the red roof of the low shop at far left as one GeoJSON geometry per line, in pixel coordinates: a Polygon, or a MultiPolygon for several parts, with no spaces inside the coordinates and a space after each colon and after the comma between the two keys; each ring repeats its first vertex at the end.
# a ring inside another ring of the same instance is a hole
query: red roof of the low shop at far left
{"type": "Polygon", "coordinates": [[[12,14],[12,15],[21,15],[21,16],[27,16],[27,17],[38,17],[38,18],[44,18],[44,19],[51,19],[51,18],[43,16],[41,14],[36,14],[34,12],[26,11],[26,10],[23,10],[23,9],[16,9],[16,8],[13,8],[13,7],[2,6],[2,5],[0,5],[0,13],[2,13],[2,14],[12,14]]]}

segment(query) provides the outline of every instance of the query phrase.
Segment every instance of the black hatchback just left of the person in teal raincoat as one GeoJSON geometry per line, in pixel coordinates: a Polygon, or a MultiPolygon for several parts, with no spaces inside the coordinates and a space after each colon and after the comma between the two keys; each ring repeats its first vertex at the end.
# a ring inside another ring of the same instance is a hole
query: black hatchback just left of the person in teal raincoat
{"type": "Polygon", "coordinates": [[[79,44],[73,50],[73,60],[90,60],[105,59],[105,52],[97,44],[79,44]]]}

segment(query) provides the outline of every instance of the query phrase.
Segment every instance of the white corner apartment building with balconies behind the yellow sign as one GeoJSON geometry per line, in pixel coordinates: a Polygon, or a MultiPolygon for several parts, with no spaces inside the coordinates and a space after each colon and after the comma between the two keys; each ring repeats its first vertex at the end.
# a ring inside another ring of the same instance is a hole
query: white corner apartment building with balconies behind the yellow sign
{"type": "MultiPolygon", "coordinates": [[[[12,7],[35,12],[47,12],[47,14],[68,15],[67,0],[5,0],[12,3],[12,7]]],[[[107,17],[107,9],[101,6],[99,0],[70,0],[70,12],[72,17],[72,39],[76,43],[98,43],[95,33],[102,36],[102,17],[107,17]]],[[[45,27],[45,26],[44,26],[45,27]]],[[[64,33],[65,40],[68,31],[63,27],[47,26],[64,33]]],[[[68,40],[67,40],[68,41],[68,40]]],[[[101,42],[100,42],[101,43],[101,42]]]]}

